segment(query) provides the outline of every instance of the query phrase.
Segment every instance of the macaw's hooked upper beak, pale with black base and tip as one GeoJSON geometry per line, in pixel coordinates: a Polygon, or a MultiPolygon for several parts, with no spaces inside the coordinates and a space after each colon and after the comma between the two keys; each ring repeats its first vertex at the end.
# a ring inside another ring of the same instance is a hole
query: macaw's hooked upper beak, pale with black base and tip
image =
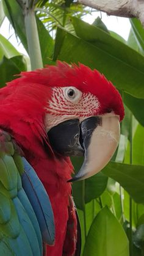
{"type": "Polygon", "coordinates": [[[84,180],[102,170],[109,163],[120,140],[120,123],[117,115],[99,117],[96,128],[92,129],[95,117],[81,123],[83,136],[84,163],[79,172],[70,180],[84,180]]]}

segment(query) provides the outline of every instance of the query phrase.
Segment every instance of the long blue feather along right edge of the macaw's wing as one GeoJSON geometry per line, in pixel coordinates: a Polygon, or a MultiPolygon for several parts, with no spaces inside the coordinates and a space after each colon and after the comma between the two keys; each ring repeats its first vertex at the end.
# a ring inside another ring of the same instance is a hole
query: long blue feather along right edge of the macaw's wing
{"type": "Polygon", "coordinates": [[[23,158],[23,164],[25,170],[21,176],[23,189],[37,216],[43,242],[52,245],[55,238],[55,225],[48,194],[34,169],[25,158],[23,158]]]}

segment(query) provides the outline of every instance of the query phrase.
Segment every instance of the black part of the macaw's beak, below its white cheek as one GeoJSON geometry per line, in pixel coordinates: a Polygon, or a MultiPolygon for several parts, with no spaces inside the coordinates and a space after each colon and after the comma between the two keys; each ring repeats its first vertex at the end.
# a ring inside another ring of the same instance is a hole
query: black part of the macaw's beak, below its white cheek
{"type": "Polygon", "coordinates": [[[64,156],[83,156],[93,130],[100,123],[99,117],[89,117],[82,121],[81,125],[79,119],[59,123],[48,132],[51,147],[64,156]]]}

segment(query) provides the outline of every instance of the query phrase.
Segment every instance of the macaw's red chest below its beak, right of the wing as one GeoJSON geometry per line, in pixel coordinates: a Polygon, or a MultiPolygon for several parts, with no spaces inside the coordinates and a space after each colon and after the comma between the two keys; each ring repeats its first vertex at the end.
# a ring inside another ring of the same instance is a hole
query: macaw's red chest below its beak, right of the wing
{"type": "MultiPolygon", "coordinates": [[[[41,161],[31,161],[30,159],[29,161],[48,192],[54,212],[56,240],[54,246],[47,246],[47,254],[49,256],[62,256],[63,244],[67,239],[68,206],[71,196],[71,184],[67,183],[67,180],[71,177],[70,164],[67,161],[52,161],[49,159],[41,159],[41,161]]],[[[74,222],[76,227],[76,218],[74,218],[74,222]]],[[[73,234],[73,230],[71,232],[73,237],[75,234],[73,234]]],[[[67,254],[67,256],[69,255],[74,254],[67,254]]]]}

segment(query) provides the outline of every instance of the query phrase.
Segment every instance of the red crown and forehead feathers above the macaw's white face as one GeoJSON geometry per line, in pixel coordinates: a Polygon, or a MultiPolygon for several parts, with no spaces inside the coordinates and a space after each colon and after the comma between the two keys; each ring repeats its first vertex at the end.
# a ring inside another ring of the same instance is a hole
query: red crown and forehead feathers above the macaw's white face
{"type": "Polygon", "coordinates": [[[46,68],[31,72],[22,72],[23,81],[33,83],[40,82],[48,87],[67,87],[74,86],[84,93],[92,93],[101,104],[99,114],[104,114],[112,109],[115,114],[120,115],[120,120],[124,117],[124,108],[120,93],[110,81],[101,75],[97,70],[91,70],[83,64],[72,64],[57,61],[56,66],[47,66],[46,68]]]}

